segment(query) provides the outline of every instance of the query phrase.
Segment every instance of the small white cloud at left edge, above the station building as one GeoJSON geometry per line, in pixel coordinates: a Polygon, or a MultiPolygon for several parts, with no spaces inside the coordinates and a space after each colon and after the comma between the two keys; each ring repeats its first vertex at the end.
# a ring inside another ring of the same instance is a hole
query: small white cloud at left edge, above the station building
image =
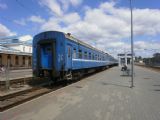
{"type": "Polygon", "coordinates": [[[16,33],[10,31],[6,26],[0,23],[0,36],[1,37],[13,36],[13,35],[16,35],[16,33]]]}

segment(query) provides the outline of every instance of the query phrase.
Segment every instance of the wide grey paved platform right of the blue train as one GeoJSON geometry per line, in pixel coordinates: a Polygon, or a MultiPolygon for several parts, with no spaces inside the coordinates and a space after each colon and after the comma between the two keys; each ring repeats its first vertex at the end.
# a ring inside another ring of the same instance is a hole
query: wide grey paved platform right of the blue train
{"type": "Polygon", "coordinates": [[[119,67],[0,113],[2,120],[159,120],[160,74],[135,67],[131,78],[119,67]]]}

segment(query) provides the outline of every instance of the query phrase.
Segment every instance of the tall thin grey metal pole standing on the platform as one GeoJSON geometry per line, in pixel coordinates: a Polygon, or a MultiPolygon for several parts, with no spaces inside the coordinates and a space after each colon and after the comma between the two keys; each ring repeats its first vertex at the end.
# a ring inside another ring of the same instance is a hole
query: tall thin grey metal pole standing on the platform
{"type": "Polygon", "coordinates": [[[131,88],[134,87],[134,83],[133,83],[133,80],[134,80],[134,60],[133,60],[133,55],[134,55],[134,46],[133,46],[133,15],[132,15],[132,0],[130,0],[130,11],[131,11],[131,54],[132,54],[132,64],[131,64],[131,88]]]}

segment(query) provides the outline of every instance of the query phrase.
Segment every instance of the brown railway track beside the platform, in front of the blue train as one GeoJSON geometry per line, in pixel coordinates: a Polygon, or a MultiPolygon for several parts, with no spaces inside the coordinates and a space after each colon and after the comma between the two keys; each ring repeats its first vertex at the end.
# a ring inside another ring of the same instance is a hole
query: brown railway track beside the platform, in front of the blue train
{"type": "MultiPolygon", "coordinates": [[[[72,83],[73,82],[68,82],[68,84],[72,84],[72,83]]],[[[57,82],[52,86],[50,85],[50,83],[45,83],[41,86],[35,86],[33,88],[30,88],[21,92],[16,92],[13,94],[2,96],[0,98],[0,112],[3,112],[9,108],[17,106],[29,100],[32,100],[46,93],[55,91],[64,86],[66,86],[66,84],[63,81],[57,82]]]]}

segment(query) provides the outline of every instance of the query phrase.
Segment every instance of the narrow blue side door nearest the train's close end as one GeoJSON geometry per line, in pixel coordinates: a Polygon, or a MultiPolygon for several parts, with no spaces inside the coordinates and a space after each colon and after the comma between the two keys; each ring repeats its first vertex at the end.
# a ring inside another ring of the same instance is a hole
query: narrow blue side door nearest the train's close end
{"type": "Polygon", "coordinates": [[[72,45],[67,45],[67,68],[72,69],[72,45]]]}

